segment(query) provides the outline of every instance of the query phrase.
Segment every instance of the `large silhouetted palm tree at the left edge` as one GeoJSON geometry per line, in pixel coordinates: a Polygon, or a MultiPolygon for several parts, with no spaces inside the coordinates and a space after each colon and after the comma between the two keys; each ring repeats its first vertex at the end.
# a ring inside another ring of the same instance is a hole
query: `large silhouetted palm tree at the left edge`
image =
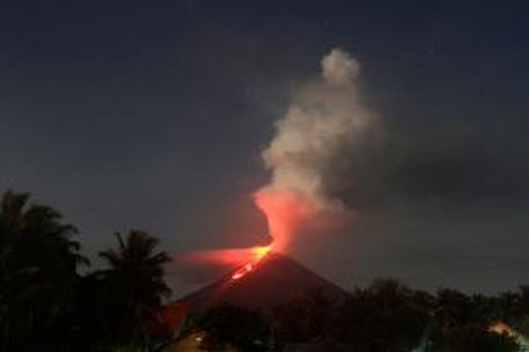
{"type": "Polygon", "coordinates": [[[0,349],[65,348],[61,323],[70,308],[80,256],[75,227],[53,208],[28,205],[27,193],[6,191],[0,204],[0,349]],[[46,345],[49,344],[49,345],[46,345]],[[1,348],[4,347],[4,348],[1,348]]]}

